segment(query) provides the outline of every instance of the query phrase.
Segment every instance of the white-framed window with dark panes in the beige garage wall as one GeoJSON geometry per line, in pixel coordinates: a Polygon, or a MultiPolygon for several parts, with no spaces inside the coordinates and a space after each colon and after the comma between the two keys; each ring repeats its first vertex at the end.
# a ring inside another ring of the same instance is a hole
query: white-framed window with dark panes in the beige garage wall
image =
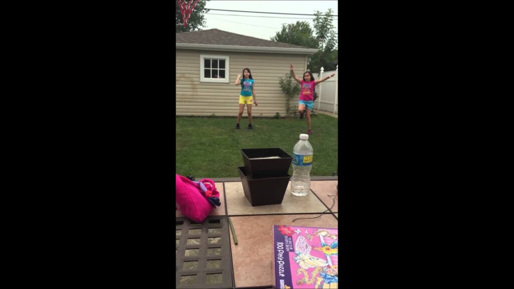
{"type": "Polygon", "coordinates": [[[229,57],[200,55],[200,82],[229,82],[229,57]]]}

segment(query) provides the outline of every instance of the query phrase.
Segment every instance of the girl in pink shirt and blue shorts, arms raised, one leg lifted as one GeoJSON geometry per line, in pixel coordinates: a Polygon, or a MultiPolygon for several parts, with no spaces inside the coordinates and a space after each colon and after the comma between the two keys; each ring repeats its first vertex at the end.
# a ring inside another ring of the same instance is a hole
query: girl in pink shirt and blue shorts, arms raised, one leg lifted
{"type": "Polygon", "coordinates": [[[313,110],[314,105],[314,88],[319,83],[334,77],[336,74],[333,73],[331,76],[327,76],[321,80],[315,80],[313,74],[307,70],[303,74],[303,80],[299,79],[295,75],[295,71],[292,70],[292,64],[289,64],[289,69],[291,70],[292,77],[300,83],[300,100],[298,101],[298,112],[300,113],[300,119],[303,119],[303,114],[307,115],[307,134],[311,134],[310,131],[310,111],[313,110]],[[305,107],[307,107],[307,111],[305,112],[305,107]]]}

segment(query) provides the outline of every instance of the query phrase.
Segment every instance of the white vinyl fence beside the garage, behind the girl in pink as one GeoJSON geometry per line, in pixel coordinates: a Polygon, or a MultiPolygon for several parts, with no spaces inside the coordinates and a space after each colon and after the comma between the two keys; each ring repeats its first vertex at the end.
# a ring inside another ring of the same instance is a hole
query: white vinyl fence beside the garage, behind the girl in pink
{"type": "Polygon", "coordinates": [[[321,67],[321,71],[318,74],[318,76],[316,76],[316,79],[322,79],[324,77],[331,76],[333,73],[335,73],[336,75],[333,78],[329,78],[328,80],[323,81],[316,87],[318,99],[316,99],[316,101],[314,102],[315,109],[335,114],[338,113],[338,68],[339,65],[336,66],[336,70],[323,71],[324,69],[323,67],[321,67]]]}

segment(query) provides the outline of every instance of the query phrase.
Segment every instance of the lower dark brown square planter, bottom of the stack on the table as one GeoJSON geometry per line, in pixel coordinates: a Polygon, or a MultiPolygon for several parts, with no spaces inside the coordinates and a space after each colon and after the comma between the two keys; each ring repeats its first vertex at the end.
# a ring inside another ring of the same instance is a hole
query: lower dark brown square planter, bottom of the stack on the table
{"type": "Polygon", "coordinates": [[[245,167],[239,167],[245,196],[254,206],[282,204],[290,175],[281,177],[252,178],[245,167]]]}

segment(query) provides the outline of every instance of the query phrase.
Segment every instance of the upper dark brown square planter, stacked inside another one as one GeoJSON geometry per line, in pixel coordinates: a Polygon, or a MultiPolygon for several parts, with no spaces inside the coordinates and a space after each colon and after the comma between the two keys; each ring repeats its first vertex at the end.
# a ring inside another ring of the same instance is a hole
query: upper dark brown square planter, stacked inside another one
{"type": "Polygon", "coordinates": [[[291,166],[292,157],[279,148],[242,149],[241,153],[246,174],[252,178],[284,177],[291,166]]]}

